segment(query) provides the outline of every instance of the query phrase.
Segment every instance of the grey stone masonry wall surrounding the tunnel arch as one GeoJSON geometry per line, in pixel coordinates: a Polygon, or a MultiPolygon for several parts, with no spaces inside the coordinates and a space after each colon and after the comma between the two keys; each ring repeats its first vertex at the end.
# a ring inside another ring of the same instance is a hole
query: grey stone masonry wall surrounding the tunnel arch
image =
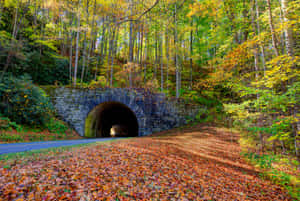
{"type": "Polygon", "coordinates": [[[195,118],[198,106],[182,100],[166,98],[164,94],[141,89],[75,89],[45,88],[56,113],[84,136],[85,119],[103,102],[116,101],[128,106],[136,115],[139,136],[148,135],[186,124],[195,118]]]}

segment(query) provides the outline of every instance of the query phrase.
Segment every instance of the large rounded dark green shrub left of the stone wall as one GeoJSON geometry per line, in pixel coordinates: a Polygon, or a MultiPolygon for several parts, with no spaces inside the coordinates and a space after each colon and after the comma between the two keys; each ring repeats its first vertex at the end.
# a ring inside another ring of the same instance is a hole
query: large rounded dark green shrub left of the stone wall
{"type": "Polygon", "coordinates": [[[0,113],[17,124],[44,126],[51,117],[51,110],[45,92],[28,76],[8,75],[0,82],[0,113]]]}

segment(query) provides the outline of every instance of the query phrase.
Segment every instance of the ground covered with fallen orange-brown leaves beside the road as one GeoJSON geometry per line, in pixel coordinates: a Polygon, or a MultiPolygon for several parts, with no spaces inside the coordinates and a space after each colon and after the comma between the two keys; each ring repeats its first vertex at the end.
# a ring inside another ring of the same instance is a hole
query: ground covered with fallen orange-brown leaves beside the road
{"type": "Polygon", "coordinates": [[[0,200],[291,200],[241,159],[236,140],[197,126],[0,161],[0,200]]]}

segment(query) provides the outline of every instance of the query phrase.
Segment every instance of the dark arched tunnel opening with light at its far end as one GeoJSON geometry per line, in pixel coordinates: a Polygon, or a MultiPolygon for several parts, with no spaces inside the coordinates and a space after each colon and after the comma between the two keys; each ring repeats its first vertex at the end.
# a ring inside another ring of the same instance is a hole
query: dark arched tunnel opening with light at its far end
{"type": "Polygon", "coordinates": [[[85,120],[86,137],[138,136],[134,112],[120,102],[104,102],[96,106],[85,120]]]}

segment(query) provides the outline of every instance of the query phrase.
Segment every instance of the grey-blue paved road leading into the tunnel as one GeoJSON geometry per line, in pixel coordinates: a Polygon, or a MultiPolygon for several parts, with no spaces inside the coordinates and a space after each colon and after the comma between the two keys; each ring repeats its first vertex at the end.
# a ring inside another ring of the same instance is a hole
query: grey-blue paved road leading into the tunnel
{"type": "Polygon", "coordinates": [[[26,142],[26,143],[11,143],[0,144],[0,154],[23,152],[37,149],[46,149],[51,147],[70,146],[76,144],[86,144],[91,142],[108,141],[120,138],[96,138],[96,139],[83,139],[83,140],[61,140],[61,141],[46,141],[46,142],[26,142]]]}

